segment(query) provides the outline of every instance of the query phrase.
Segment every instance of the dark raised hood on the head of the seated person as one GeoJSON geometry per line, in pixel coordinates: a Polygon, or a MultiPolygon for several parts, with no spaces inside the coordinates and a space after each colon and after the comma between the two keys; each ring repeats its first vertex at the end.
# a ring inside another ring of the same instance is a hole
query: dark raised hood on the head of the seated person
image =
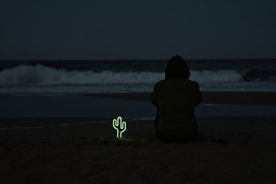
{"type": "Polygon", "coordinates": [[[165,79],[188,79],[189,77],[190,70],[182,57],[177,55],[168,61],[165,79]]]}

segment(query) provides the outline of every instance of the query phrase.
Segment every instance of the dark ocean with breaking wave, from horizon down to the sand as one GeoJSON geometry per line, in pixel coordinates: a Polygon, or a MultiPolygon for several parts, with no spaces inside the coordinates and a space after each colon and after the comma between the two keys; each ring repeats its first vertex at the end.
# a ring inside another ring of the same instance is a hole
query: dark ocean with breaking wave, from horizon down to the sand
{"type": "MultiPolygon", "coordinates": [[[[167,60],[0,61],[0,93],[151,92],[167,60]]],[[[276,60],[187,60],[201,91],[276,92],[276,60]]]]}

